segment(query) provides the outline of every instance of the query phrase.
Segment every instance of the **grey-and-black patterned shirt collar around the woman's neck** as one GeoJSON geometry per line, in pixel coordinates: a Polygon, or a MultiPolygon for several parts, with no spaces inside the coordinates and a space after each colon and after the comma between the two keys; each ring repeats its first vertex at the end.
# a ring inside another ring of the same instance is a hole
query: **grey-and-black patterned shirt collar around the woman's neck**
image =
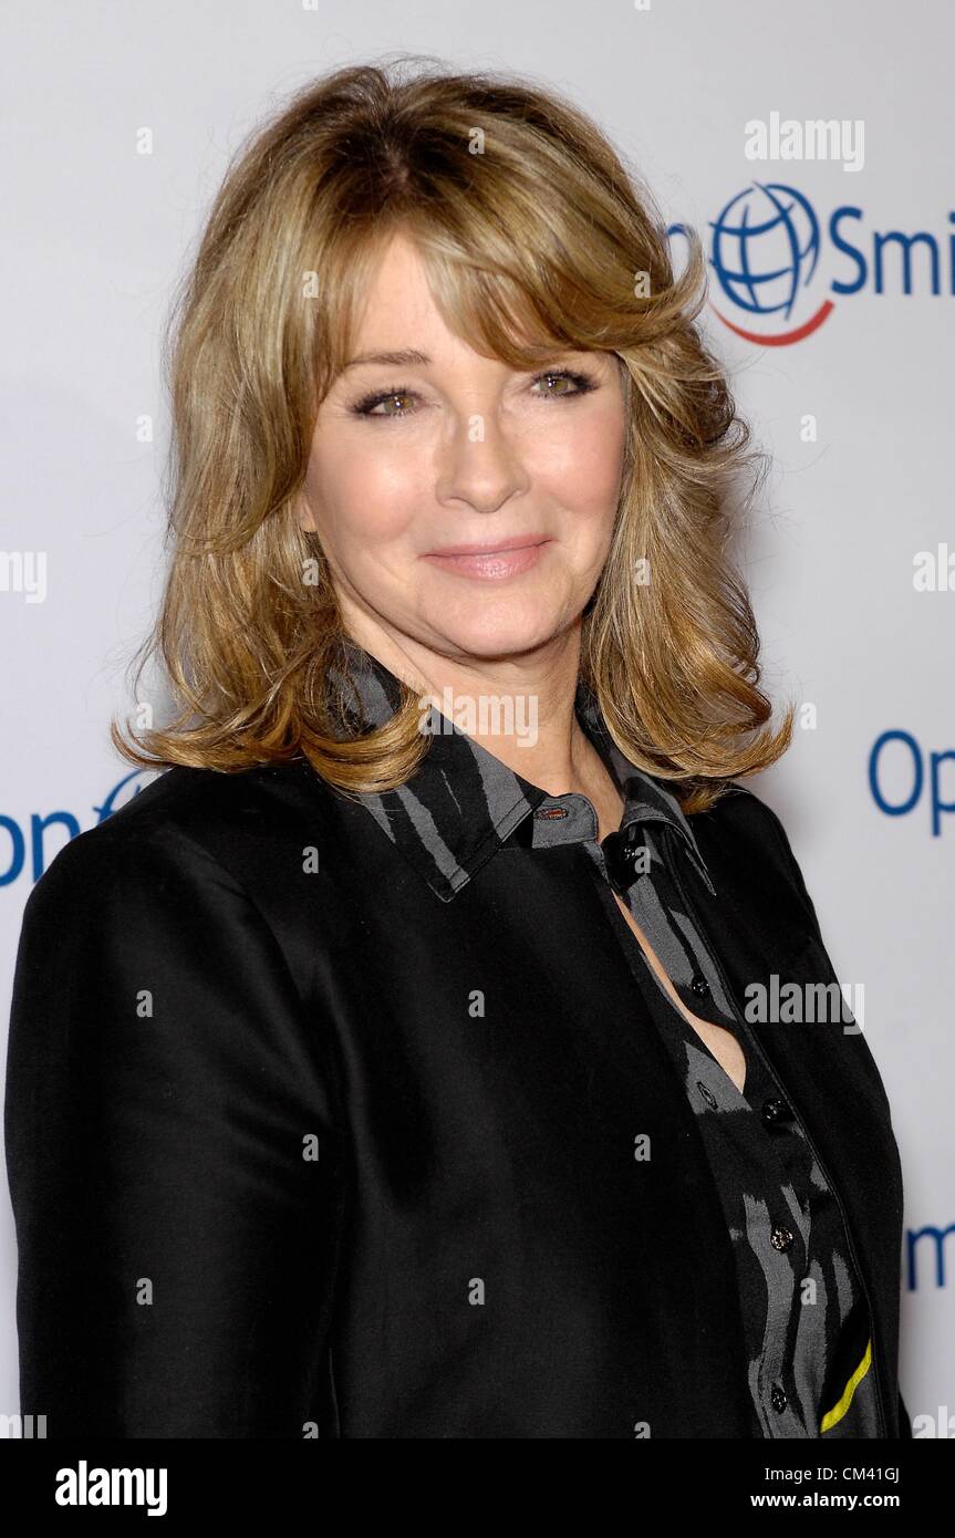
{"type": "MultiPolygon", "coordinates": [[[[358,732],[383,726],[400,706],[400,680],[351,637],[343,638],[343,652],[346,669],[331,667],[329,672],[341,691],[349,717],[358,732]]],[[[595,694],[583,681],[577,686],[575,711],[624,798],[620,832],[626,832],[634,823],[672,827],[697,874],[715,895],[677,798],[617,747],[595,694]]],[[[431,732],[431,746],[409,781],[381,794],[348,794],[371,812],[432,891],[443,901],[451,901],[526,818],[544,803],[552,803],[557,814],[566,798],[547,795],[509,769],[434,704],[423,721],[431,732]]],[[[534,832],[531,838],[535,838],[534,832]]],[[[560,841],[560,835],[547,837],[546,841],[560,841]]]]}

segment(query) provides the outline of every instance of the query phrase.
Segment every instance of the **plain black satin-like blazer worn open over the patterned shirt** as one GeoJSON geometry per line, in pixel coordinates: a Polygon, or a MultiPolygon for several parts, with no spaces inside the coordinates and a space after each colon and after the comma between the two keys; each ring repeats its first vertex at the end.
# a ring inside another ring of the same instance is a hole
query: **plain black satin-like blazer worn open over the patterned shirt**
{"type": "MultiPolygon", "coordinates": [[[[400,792],[369,806],[304,761],[172,769],[31,894],[23,1413],[49,1436],[749,1435],[717,1189],[581,847],[461,829],[451,901],[383,832],[400,792]],[[634,1127],[652,1184],[618,1157],[634,1127]]],[[[775,814],[734,786],[690,821],[737,998],[834,980],[775,814]]],[[[878,1069],[861,1034],[760,1029],[841,1198],[886,1435],[910,1435],[878,1069]]]]}

